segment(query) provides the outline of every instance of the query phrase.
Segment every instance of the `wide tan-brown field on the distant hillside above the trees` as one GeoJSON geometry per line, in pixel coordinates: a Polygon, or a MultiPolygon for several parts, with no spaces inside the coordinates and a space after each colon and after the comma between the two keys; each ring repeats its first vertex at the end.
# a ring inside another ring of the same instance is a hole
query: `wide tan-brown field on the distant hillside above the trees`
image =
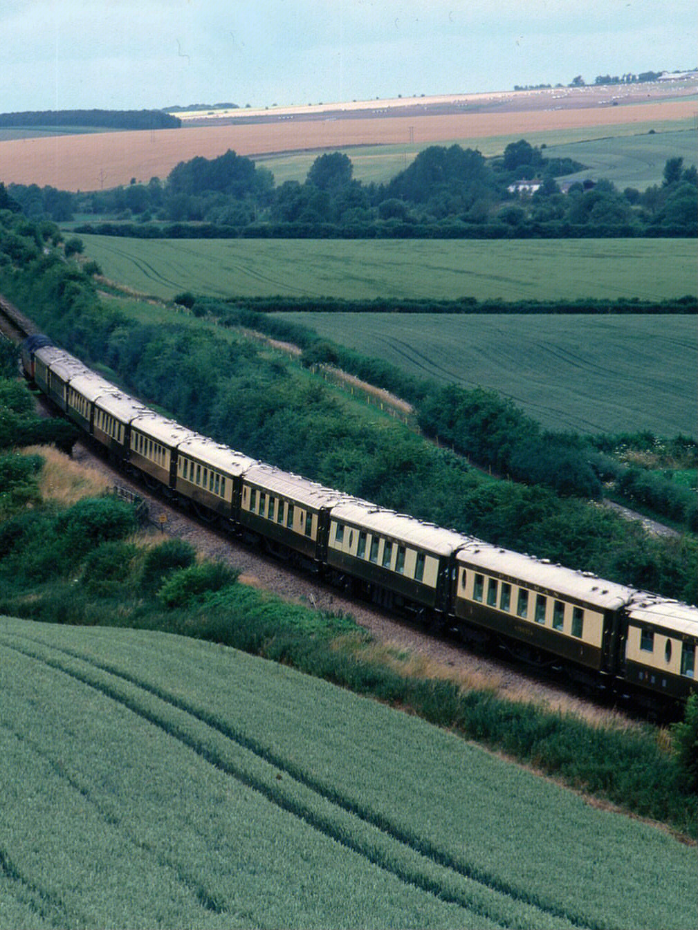
{"type": "Polygon", "coordinates": [[[67,191],[95,191],[164,179],[181,161],[238,154],[323,150],[354,145],[417,146],[486,139],[512,132],[522,137],[546,130],[618,126],[693,119],[695,100],[671,100],[608,108],[552,109],[517,113],[449,113],[372,116],[365,119],[289,119],[235,126],[195,126],[153,132],[100,133],[0,142],[0,179],[6,184],[47,184],[67,191]]]}

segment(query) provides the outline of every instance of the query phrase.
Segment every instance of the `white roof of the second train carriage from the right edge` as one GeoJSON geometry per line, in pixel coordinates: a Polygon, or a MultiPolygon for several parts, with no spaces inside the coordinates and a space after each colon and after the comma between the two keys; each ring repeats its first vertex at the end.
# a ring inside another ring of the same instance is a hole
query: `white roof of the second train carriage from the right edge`
{"type": "Polygon", "coordinates": [[[597,578],[592,572],[578,572],[562,565],[552,565],[545,559],[500,549],[489,542],[473,539],[456,555],[463,565],[481,568],[483,573],[495,572],[515,583],[534,585],[547,591],[557,591],[601,610],[617,610],[628,604],[634,593],[632,588],[597,578]]]}

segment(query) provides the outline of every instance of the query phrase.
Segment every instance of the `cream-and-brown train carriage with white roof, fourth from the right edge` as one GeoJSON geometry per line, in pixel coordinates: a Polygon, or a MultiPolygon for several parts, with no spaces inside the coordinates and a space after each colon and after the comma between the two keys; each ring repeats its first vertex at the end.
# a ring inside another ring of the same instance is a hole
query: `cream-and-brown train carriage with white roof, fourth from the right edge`
{"type": "Polygon", "coordinates": [[[242,479],[240,524],[269,548],[298,552],[316,566],[327,555],[329,510],[343,498],[342,491],[255,464],[242,479]]]}

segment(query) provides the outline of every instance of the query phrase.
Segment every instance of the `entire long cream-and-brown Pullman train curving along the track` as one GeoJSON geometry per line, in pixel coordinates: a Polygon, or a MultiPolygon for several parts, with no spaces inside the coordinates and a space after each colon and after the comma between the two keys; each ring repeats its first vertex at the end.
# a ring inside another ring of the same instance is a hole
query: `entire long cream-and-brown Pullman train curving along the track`
{"type": "Polygon", "coordinates": [[[698,608],[396,513],[249,458],[168,419],[46,336],[27,379],[150,488],[431,630],[495,640],[648,707],[698,693],[698,608]]]}

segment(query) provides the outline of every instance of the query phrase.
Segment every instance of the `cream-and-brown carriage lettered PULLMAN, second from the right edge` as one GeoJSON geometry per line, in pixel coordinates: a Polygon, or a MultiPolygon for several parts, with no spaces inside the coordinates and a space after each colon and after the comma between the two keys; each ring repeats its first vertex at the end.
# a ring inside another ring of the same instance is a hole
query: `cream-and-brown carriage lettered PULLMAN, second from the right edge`
{"type": "Polygon", "coordinates": [[[517,652],[557,656],[614,675],[623,609],[633,591],[590,572],[475,541],[456,554],[456,618],[517,640],[517,652]]]}

